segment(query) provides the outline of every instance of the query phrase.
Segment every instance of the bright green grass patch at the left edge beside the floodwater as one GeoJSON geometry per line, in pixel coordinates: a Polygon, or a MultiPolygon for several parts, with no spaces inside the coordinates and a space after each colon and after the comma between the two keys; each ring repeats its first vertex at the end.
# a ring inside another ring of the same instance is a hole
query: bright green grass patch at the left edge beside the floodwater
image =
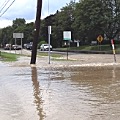
{"type": "Polygon", "coordinates": [[[12,62],[12,61],[16,61],[18,58],[18,55],[13,54],[13,53],[6,53],[6,52],[1,52],[0,58],[2,59],[2,61],[5,62],[12,62]]]}

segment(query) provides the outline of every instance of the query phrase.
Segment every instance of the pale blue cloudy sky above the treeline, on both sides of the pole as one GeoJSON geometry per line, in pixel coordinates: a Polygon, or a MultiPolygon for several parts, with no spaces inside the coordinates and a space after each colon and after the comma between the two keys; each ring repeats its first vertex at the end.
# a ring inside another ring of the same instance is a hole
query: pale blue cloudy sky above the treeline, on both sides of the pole
{"type": "MultiPolygon", "coordinates": [[[[16,18],[24,18],[27,22],[34,22],[35,20],[37,0],[13,1],[0,0],[0,28],[11,25],[16,18]],[[10,8],[6,11],[9,6],[10,8]]],[[[78,1],[76,0],[76,2],[78,1]]],[[[70,0],[43,0],[41,17],[45,18],[50,14],[56,13],[57,10],[66,6],[67,3],[70,3],[70,0]]]]}

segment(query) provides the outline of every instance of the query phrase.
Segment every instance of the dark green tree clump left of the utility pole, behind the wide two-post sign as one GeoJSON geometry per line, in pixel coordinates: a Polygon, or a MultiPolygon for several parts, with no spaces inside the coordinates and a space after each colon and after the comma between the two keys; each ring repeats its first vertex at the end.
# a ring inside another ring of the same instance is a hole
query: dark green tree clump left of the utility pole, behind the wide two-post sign
{"type": "MultiPolygon", "coordinates": [[[[7,43],[14,44],[13,33],[24,33],[23,44],[33,41],[34,23],[27,23],[25,19],[16,18],[13,20],[13,25],[5,27],[0,30],[1,44],[3,46],[7,43]]],[[[17,44],[20,41],[17,41],[17,44]]]]}

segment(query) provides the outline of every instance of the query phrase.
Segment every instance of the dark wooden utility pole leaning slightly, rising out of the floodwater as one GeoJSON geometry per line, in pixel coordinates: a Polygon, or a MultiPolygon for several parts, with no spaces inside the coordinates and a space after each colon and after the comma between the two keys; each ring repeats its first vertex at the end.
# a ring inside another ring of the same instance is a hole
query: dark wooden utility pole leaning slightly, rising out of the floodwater
{"type": "Polygon", "coordinates": [[[37,44],[38,44],[39,31],[40,31],[41,10],[42,10],[42,0],[37,0],[37,13],[36,13],[36,20],[35,20],[34,40],[33,40],[30,64],[36,64],[37,44]]]}

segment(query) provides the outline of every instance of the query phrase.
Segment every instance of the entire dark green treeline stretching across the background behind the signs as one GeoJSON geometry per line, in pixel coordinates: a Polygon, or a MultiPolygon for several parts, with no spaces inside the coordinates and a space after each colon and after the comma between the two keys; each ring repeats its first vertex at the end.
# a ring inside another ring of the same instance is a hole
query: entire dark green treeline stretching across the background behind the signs
{"type": "MultiPolygon", "coordinates": [[[[52,27],[51,44],[61,47],[63,31],[72,32],[72,40],[90,43],[98,35],[106,35],[108,40],[120,33],[120,0],[80,0],[70,2],[54,15],[41,20],[39,42],[48,42],[48,26],[52,27]]],[[[34,23],[23,18],[13,20],[13,25],[0,30],[0,43],[14,42],[13,32],[23,32],[23,44],[33,41],[34,23]]]]}

